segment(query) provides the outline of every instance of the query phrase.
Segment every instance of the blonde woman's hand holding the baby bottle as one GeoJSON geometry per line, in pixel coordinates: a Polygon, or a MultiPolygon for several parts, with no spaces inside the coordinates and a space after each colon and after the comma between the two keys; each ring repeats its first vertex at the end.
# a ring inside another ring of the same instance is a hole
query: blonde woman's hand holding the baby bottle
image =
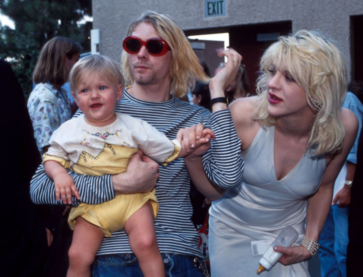
{"type": "Polygon", "coordinates": [[[284,266],[297,264],[311,258],[310,252],[302,245],[292,247],[275,246],[273,250],[283,254],[278,262],[284,266]]]}

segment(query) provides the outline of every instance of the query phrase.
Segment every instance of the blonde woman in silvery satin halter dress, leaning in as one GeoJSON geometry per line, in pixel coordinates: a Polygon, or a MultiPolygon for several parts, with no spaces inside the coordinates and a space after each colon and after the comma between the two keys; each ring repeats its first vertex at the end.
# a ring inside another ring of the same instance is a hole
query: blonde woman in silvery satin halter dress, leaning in
{"type": "Polygon", "coordinates": [[[307,260],[357,135],[356,116],[341,108],[346,68],[331,42],[304,30],[280,37],[261,71],[259,95],[230,105],[245,170],[242,184],[210,209],[212,276],[256,276],[262,256],[252,242],[273,240],[286,225],[299,238],[274,249],[280,263],[261,276],[309,276],[307,260]]]}

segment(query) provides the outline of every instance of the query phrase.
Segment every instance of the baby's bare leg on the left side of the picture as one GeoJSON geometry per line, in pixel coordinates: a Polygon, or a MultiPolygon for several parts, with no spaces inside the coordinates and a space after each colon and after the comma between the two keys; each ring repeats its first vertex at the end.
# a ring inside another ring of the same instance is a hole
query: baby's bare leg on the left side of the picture
{"type": "Polygon", "coordinates": [[[104,234],[95,225],[77,217],[71,248],[68,251],[67,277],[90,277],[91,265],[101,245],[104,234]]]}

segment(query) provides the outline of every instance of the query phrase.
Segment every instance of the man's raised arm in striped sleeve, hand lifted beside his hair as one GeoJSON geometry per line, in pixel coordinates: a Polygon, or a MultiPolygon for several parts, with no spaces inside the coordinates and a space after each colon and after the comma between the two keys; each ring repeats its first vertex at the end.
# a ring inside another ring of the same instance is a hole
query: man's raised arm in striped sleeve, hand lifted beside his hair
{"type": "MultiPolygon", "coordinates": [[[[211,99],[225,97],[224,90],[236,76],[242,61],[242,56],[233,49],[219,51],[218,56],[226,56],[228,62],[209,84],[211,99]]],[[[208,126],[209,122],[202,122],[205,127],[210,128],[215,134],[215,140],[212,141],[210,151],[202,158],[203,168],[207,179],[212,184],[221,188],[236,187],[241,184],[243,176],[241,141],[237,136],[227,104],[215,103],[212,109],[211,125],[208,126]]],[[[191,171],[189,175],[190,178],[198,180],[200,172],[194,173],[194,171],[191,171]]],[[[194,185],[199,187],[196,183],[194,185]]]]}

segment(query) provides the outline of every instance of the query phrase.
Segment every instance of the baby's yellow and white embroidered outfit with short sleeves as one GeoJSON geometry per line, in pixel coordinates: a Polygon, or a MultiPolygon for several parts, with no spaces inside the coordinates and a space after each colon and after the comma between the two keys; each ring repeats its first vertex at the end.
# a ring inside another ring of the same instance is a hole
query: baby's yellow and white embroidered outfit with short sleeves
{"type": "MultiPolygon", "coordinates": [[[[169,140],[150,124],[123,114],[117,114],[115,122],[102,127],[89,125],[83,115],[71,119],[54,132],[50,145],[43,162],[58,161],[78,174],[91,176],[125,172],[129,159],[139,149],[165,165],[181,149],[178,141],[169,140]]],[[[149,200],[156,217],[159,204],[154,189],[147,193],[116,195],[96,205],[81,203],[71,209],[68,222],[74,229],[76,218],[81,216],[111,237],[112,232],[122,229],[126,220],[149,200]]]]}

